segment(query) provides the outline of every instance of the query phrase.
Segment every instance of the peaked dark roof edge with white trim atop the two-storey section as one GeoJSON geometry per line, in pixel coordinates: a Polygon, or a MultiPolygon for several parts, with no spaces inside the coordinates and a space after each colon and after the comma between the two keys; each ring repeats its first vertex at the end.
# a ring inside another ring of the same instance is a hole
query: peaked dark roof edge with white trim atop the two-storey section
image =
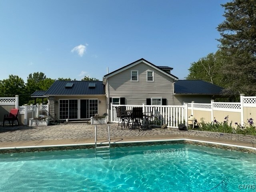
{"type": "Polygon", "coordinates": [[[154,68],[154,69],[160,71],[161,73],[163,73],[163,74],[169,76],[170,78],[173,78],[174,80],[178,80],[178,77],[176,77],[176,76],[174,76],[174,75],[172,75],[172,74],[170,74],[170,73],[164,71],[161,67],[158,67],[158,66],[156,66],[156,65],[154,65],[154,64],[152,64],[152,63],[150,63],[150,62],[148,62],[148,61],[145,60],[144,58],[141,58],[141,59],[139,59],[139,60],[137,60],[137,61],[134,61],[134,62],[132,62],[132,63],[126,65],[126,66],[123,66],[123,67],[121,67],[121,68],[119,68],[119,69],[117,69],[117,70],[115,70],[115,71],[113,71],[113,72],[110,72],[110,73],[104,75],[103,79],[107,79],[107,78],[109,78],[109,77],[111,77],[111,76],[114,76],[115,74],[118,74],[118,73],[120,73],[120,72],[122,72],[122,71],[124,71],[124,70],[126,70],[126,69],[129,69],[129,68],[131,68],[131,67],[133,67],[133,66],[135,66],[135,65],[137,65],[137,64],[140,64],[140,63],[142,63],[142,62],[143,62],[144,64],[146,64],[146,65],[148,65],[148,66],[150,66],[150,67],[152,67],[152,68],[154,68]]]}

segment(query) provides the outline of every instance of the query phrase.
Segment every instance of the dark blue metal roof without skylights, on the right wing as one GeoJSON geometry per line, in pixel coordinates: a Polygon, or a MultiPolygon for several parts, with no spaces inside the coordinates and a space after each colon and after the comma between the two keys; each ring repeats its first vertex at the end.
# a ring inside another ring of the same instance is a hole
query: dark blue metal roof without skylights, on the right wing
{"type": "Polygon", "coordinates": [[[202,80],[178,80],[174,94],[222,94],[224,88],[202,80]]]}

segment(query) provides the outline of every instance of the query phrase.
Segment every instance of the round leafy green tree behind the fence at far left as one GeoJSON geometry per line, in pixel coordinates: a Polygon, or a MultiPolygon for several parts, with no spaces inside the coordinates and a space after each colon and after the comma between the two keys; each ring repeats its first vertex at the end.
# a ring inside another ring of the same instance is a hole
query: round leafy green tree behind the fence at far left
{"type": "Polygon", "coordinates": [[[26,104],[24,80],[16,75],[9,75],[8,79],[0,80],[0,96],[14,97],[15,95],[19,95],[19,105],[26,104]]]}

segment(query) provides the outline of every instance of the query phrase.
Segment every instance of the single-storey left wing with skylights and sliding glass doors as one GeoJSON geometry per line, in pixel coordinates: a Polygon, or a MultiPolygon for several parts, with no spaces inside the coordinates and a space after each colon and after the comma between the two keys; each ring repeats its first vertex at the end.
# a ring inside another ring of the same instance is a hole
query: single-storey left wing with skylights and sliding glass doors
{"type": "Polygon", "coordinates": [[[44,93],[50,115],[59,120],[84,120],[106,113],[106,93],[102,81],[55,81],[44,93]]]}

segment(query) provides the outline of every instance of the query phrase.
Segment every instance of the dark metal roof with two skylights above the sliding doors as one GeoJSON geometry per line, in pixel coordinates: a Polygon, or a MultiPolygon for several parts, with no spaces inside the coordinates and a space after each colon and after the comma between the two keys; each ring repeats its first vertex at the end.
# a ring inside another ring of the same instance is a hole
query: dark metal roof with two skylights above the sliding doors
{"type": "Polygon", "coordinates": [[[102,81],[55,81],[45,92],[45,96],[56,95],[104,95],[105,89],[102,81]],[[90,83],[95,87],[90,87],[90,83]]]}

